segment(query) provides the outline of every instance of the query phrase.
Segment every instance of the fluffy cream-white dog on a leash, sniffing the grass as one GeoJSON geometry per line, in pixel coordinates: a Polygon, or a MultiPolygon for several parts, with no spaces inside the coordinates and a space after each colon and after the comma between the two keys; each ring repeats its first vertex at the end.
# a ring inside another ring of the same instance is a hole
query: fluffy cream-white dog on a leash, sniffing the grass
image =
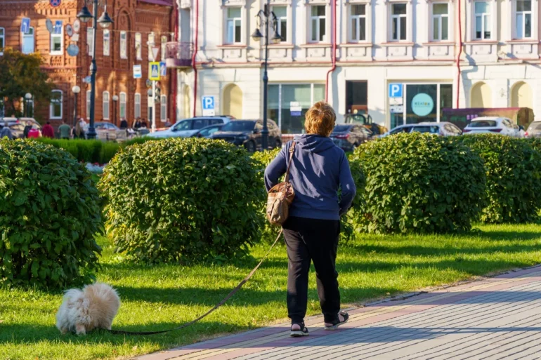
{"type": "Polygon", "coordinates": [[[72,288],[66,291],[58,309],[56,327],[63,334],[70,331],[77,335],[95,328],[110,329],[119,307],[117,291],[107,284],[86,285],[82,291],[72,288]]]}

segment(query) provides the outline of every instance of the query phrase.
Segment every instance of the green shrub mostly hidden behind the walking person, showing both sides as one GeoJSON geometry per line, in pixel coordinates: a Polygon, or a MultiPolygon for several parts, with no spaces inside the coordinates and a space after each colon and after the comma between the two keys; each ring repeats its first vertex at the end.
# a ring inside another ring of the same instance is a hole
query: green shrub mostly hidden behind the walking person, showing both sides
{"type": "MultiPolygon", "coordinates": [[[[273,161],[273,159],[278,155],[279,152],[280,149],[273,149],[263,152],[255,152],[254,154],[252,154],[252,159],[254,159],[254,166],[256,167],[257,173],[259,175],[259,186],[263,190],[265,189],[265,168],[268,166],[268,164],[271,164],[271,161],[273,161]]],[[[363,189],[365,187],[365,177],[358,162],[350,161],[349,165],[351,167],[351,175],[353,175],[353,180],[355,180],[355,184],[357,187],[357,194],[355,200],[353,201],[351,210],[348,212],[347,215],[341,218],[341,241],[348,241],[350,239],[353,239],[353,237],[355,236],[353,222],[351,221],[351,214],[355,213],[356,211],[360,211],[360,208],[362,208],[363,189]]],[[[283,181],[283,177],[280,179],[280,181],[283,181]]],[[[264,192],[261,197],[260,205],[261,216],[263,217],[263,219],[265,219],[266,224],[263,229],[262,239],[264,241],[274,241],[276,239],[276,236],[278,236],[278,232],[280,232],[280,227],[273,226],[266,220],[266,200],[267,196],[266,192],[264,192]]]]}

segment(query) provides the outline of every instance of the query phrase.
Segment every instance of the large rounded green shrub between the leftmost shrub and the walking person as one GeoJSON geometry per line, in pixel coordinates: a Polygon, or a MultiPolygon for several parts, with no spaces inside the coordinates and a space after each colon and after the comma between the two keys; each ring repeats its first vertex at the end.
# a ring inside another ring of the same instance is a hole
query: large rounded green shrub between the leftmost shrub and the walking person
{"type": "Polygon", "coordinates": [[[233,258],[259,240],[261,188],[244,149],[167,139],[122,149],[105,168],[107,233],[145,262],[233,258]]]}

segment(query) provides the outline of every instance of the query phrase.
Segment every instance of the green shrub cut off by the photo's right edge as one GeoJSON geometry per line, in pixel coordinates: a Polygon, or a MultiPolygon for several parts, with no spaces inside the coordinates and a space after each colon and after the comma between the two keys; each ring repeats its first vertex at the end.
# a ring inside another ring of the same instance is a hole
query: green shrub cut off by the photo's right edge
{"type": "Polygon", "coordinates": [[[531,222],[541,208],[541,154],[537,140],[467,135],[462,141],[484,161],[488,205],[483,222],[531,222]],[[533,146],[532,146],[533,145],[533,146]]]}

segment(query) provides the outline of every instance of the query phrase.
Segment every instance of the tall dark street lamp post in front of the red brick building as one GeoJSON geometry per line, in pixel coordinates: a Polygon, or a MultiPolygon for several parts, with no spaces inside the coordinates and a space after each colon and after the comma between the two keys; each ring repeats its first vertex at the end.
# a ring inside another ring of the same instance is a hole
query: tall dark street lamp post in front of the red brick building
{"type": "Polygon", "coordinates": [[[107,1],[105,2],[105,12],[98,19],[98,0],[93,0],[93,14],[90,13],[89,8],[86,7],[86,0],[84,1],[84,6],[81,11],[77,14],[77,18],[82,22],[89,22],[93,20],[92,25],[92,62],[90,65],[90,76],[91,76],[91,91],[90,91],[90,124],[89,132],[87,137],[89,139],[96,138],[96,129],[94,128],[94,105],[96,102],[96,72],[98,71],[98,66],[96,65],[96,29],[98,24],[101,27],[110,27],[112,20],[107,14],[107,1]]]}

